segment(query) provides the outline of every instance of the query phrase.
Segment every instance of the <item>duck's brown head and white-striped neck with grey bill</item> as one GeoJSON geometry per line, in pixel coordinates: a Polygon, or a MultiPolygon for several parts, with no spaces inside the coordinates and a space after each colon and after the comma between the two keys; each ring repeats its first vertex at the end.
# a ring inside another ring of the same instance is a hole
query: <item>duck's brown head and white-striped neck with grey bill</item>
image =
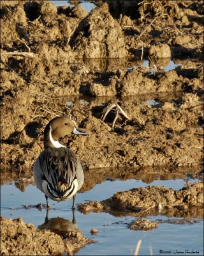
{"type": "Polygon", "coordinates": [[[76,123],[64,116],[55,117],[45,127],[44,146],[47,147],[64,147],[59,143],[59,138],[74,133],[78,135],[88,135],[76,127],[76,123]]]}

